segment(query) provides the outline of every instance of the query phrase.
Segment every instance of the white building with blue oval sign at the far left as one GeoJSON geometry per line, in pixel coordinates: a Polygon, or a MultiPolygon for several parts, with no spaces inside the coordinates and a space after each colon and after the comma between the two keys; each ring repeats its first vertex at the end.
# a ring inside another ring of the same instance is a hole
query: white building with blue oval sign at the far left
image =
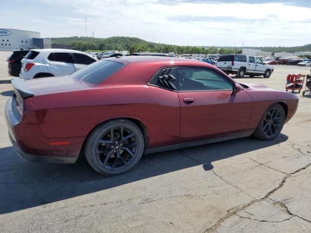
{"type": "Polygon", "coordinates": [[[0,29],[0,50],[28,50],[51,48],[50,39],[40,38],[40,33],[17,29],[0,29]]]}

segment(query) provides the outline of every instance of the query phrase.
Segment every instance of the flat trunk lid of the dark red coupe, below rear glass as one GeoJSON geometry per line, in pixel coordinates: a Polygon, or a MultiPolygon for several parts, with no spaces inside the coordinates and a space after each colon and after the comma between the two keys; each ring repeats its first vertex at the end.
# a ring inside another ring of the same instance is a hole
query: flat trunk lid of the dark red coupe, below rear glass
{"type": "Polygon", "coordinates": [[[25,83],[35,95],[86,89],[88,87],[86,83],[83,83],[80,80],[71,77],[70,75],[62,77],[30,79],[26,80],[25,83]]]}

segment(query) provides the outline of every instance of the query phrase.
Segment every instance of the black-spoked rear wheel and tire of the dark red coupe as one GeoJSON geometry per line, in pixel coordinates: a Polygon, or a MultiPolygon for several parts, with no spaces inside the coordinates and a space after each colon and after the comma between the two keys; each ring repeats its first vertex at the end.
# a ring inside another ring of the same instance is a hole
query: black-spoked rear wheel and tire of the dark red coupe
{"type": "Polygon", "coordinates": [[[125,119],[97,126],[87,137],[84,149],[89,165],[106,176],[119,175],[132,169],[143,152],[142,132],[136,124],[125,119]]]}

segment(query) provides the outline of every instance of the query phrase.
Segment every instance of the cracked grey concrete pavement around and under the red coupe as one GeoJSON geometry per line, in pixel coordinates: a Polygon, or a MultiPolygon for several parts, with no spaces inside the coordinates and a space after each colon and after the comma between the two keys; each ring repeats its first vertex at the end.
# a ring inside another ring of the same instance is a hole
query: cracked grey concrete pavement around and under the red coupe
{"type": "MultiPolygon", "coordinates": [[[[1,232],[311,232],[311,99],[272,141],[242,138],[143,156],[131,172],[103,177],[73,165],[23,161],[7,136],[12,94],[0,52],[1,232]]],[[[244,78],[283,90],[288,73],[244,78]]]]}

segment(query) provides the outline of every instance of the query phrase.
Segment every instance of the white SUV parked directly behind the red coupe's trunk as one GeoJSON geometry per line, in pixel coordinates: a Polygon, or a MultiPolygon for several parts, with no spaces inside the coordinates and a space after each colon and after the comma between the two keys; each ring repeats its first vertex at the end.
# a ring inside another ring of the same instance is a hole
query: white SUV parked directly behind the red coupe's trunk
{"type": "Polygon", "coordinates": [[[35,79],[64,76],[96,61],[87,53],[76,50],[30,50],[21,60],[19,77],[35,79]]]}

